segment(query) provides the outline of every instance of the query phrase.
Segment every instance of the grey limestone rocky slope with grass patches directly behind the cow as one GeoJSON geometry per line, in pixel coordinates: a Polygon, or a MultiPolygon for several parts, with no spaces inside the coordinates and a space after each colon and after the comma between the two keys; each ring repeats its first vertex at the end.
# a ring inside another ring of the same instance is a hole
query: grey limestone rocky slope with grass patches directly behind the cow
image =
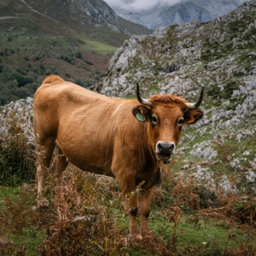
{"type": "MultiPolygon", "coordinates": [[[[182,95],[189,102],[205,95],[202,121],[186,126],[171,166],[214,190],[239,193],[256,201],[256,0],[213,22],[167,26],[150,36],[131,36],[109,62],[95,90],[134,98],[182,95]]],[[[16,115],[33,142],[33,99],[0,110],[1,136],[16,115]]]]}

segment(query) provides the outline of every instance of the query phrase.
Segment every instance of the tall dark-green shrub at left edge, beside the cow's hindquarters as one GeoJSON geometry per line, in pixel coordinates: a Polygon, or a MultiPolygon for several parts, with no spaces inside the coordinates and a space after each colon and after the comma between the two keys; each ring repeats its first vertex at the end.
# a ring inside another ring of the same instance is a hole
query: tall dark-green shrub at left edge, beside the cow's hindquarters
{"type": "Polygon", "coordinates": [[[15,112],[8,125],[0,121],[5,131],[0,134],[0,185],[21,185],[35,178],[36,153],[24,134],[15,112]]]}

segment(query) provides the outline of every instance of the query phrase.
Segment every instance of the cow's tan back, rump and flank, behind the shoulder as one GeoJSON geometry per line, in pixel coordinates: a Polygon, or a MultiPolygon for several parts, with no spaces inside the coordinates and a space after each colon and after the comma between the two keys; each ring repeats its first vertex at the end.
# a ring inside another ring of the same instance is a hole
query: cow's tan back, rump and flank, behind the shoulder
{"type": "Polygon", "coordinates": [[[54,138],[67,158],[79,168],[111,175],[115,109],[122,102],[58,76],[47,77],[34,95],[37,141],[43,144],[47,138],[54,138]]]}

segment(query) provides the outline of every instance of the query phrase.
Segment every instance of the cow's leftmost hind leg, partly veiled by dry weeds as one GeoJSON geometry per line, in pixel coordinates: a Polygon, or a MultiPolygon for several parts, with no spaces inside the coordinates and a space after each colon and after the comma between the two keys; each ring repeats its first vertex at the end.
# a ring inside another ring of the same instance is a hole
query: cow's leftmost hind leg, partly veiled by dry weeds
{"type": "Polygon", "coordinates": [[[43,143],[37,145],[37,170],[36,179],[38,184],[37,206],[48,207],[49,202],[44,197],[45,181],[47,179],[47,172],[49,171],[50,161],[53,155],[55,146],[55,138],[48,138],[43,143]]]}

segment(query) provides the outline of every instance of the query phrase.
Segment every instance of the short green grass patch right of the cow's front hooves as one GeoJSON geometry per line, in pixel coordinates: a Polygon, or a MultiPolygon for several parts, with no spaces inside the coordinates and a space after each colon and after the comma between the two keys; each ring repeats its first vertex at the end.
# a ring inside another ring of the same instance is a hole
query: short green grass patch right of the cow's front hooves
{"type": "MultiPolygon", "coordinates": [[[[164,243],[170,244],[175,228],[175,250],[179,253],[188,254],[188,251],[194,249],[197,251],[196,255],[223,255],[224,251],[229,249],[238,250],[241,244],[250,244],[255,236],[255,232],[229,225],[226,221],[204,220],[202,217],[185,213],[179,216],[175,227],[173,221],[168,220],[168,214],[164,216],[164,211],[159,209],[151,214],[150,230],[156,237],[162,237],[164,243]]],[[[129,225],[127,218],[123,225],[129,225]]]]}

